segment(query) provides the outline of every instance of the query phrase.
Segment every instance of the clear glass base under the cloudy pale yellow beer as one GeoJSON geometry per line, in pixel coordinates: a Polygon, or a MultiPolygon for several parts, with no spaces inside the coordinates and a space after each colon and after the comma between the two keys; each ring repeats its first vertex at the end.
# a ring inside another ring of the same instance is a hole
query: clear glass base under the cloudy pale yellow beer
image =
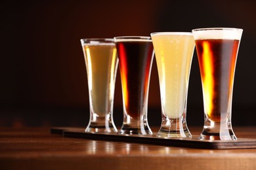
{"type": "Polygon", "coordinates": [[[161,128],[158,131],[157,137],[192,137],[184,116],[180,118],[163,117],[161,128]]]}

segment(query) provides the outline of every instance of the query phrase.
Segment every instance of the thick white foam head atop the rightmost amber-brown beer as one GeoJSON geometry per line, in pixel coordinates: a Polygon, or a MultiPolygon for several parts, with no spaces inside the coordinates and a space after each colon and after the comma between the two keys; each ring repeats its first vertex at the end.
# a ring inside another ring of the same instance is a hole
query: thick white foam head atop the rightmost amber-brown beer
{"type": "Polygon", "coordinates": [[[199,39],[235,39],[240,40],[243,29],[238,28],[201,28],[193,29],[192,33],[195,40],[199,39]]]}

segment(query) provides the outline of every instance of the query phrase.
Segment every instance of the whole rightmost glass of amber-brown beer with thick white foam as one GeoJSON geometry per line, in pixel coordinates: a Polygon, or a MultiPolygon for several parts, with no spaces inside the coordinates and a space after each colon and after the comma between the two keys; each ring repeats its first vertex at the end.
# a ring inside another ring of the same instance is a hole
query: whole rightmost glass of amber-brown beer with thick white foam
{"type": "Polygon", "coordinates": [[[231,126],[232,93],[242,29],[193,29],[203,90],[200,139],[236,140],[231,126]]]}

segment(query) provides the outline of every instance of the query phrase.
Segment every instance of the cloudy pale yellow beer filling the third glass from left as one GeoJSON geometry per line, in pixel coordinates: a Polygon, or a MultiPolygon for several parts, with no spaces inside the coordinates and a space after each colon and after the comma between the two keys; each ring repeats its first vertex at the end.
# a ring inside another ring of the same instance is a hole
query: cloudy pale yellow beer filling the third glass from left
{"type": "Polygon", "coordinates": [[[152,40],[158,65],[163,113],[169,118],[179,118],[186,106],[194,52],[193,36],[190,33],[166,33],[152,35],[152,40]]]}

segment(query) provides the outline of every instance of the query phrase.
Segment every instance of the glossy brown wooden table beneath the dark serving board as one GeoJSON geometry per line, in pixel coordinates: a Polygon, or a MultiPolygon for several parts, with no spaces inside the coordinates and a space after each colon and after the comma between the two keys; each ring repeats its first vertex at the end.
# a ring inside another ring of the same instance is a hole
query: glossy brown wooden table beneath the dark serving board
{"type": "MultiPolygon", "coordinates": [[[[201,128],[190,127],[199,135],[201,128]]],[[[234,127],[256,138],[256,127],[234,127]]],[[[75,139],[49,128],[0,127],[0,169],[256,169],[256,148],[209,150],[75,139]]]]}

